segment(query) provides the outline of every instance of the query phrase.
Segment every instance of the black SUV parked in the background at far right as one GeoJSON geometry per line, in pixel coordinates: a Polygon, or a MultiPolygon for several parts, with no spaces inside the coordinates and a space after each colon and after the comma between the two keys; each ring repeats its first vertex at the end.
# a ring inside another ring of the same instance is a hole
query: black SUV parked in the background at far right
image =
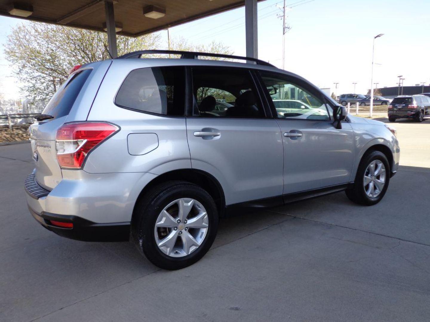
{"type": "Polygon", "coordinates": [[[413,118],[423,122],[425,117],[430,117],[430,97],[425,95],[397,96],[388,106],[390,122],[397,118],[413,118]]]}

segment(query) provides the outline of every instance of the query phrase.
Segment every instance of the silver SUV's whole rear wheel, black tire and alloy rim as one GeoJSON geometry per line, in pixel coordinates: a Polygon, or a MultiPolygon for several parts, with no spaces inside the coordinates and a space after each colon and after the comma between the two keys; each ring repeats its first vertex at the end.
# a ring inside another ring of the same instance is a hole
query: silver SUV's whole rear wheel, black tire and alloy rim
{"type": "Polygon", "coordinates": [[[217,229],[218,210],[212,197],[197,185],[173,181],[139,200],[132,238],[154,265],[177,270],[208,252],[217,229]]]}

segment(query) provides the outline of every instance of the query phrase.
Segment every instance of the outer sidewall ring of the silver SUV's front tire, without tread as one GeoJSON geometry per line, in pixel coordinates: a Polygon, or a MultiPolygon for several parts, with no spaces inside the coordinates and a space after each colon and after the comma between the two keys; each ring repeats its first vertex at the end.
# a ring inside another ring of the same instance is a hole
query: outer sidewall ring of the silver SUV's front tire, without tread
{"type": "Polygon", "coordinates": [[[388,185],[390,184],[390,164],[388,163],[387,157],[384,155],[384,153],[379,151],[373,151],[365,156],[363,159],[363,162],[359,165],[359,169],[357,171],[357,188],[359,188],[359,193],[361,194],[362,200],[365,202],[365,204],[371,206],[374,204],[377,204],[379,201],[382,200],[385,193],[387,192],[388,185]],[[385,184],[384,188],[382,189],[381,193],[378,195],[378,197],[371,198],[366,194],[365,188],[364,188],[364,174],[369,166],[369,164],[372,161],[379,160],[384,164],[385,167],[385,184]]]}

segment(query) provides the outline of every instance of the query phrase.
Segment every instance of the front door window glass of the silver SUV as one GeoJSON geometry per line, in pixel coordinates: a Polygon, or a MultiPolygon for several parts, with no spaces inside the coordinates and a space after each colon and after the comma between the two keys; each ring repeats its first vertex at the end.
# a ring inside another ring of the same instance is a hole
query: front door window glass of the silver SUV
{"type": "Polygon", "coordinates": [[[260,74],[272,98],[278,118],[330,119],[321,96],[312,94],[278,74],[267,72],[260,74]]]}

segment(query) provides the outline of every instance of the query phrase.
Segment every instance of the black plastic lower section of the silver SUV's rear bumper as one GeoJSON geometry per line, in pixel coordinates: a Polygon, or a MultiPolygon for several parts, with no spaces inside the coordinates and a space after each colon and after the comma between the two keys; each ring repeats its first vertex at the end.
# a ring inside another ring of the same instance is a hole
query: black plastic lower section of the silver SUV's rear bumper
{"type": "Polygon", "coordinates": [[[65,216],[54,213],[36,213],[30,207],[31,215],[37,222],[55,234],[75,240],[115,242],[128,241],[130,236],[129,222],[113,222],[108,224],[97,224],[77,216],[65,216]],[[51,220],[57,222],[68,222],[73,228],[61,228],[51,224],[51,220]]]}

